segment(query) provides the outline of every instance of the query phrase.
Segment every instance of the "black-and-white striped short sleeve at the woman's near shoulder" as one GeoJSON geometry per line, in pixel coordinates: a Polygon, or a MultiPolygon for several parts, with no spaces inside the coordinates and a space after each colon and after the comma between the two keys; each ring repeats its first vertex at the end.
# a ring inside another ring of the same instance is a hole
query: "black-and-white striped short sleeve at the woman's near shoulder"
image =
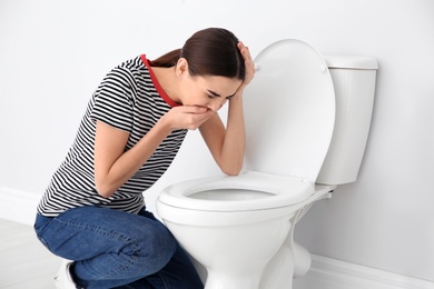
{"type": "Polygon", "coordinates": [[[111,70],[93,94],[90,119],[131,132],[132,81],[134,78],[128,69],[118,67],[111,70]]]}

